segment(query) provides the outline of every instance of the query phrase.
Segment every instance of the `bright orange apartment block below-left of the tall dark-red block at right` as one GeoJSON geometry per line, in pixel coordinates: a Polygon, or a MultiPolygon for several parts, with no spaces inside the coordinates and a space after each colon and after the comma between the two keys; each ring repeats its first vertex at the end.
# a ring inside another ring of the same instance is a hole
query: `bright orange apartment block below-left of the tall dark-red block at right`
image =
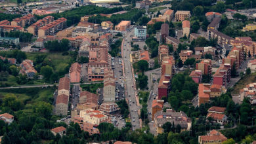
{"type": "Polygon", "coordinates": [[[210,100],[210,84],[198,85],[198,106],[203,103],[208,103],[210,100]]]}

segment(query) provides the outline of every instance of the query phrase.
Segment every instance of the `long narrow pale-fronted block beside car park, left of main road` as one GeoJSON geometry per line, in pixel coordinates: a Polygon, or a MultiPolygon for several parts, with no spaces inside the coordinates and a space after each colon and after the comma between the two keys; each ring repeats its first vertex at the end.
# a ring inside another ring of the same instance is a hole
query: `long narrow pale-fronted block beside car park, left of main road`
{"type": "Polygon", "coordinates": [[[116,101],[116,79],[114,71],[109,70],[104,72],[104,88],[103,99],[104,103],[115,103],[116,101]]]}

